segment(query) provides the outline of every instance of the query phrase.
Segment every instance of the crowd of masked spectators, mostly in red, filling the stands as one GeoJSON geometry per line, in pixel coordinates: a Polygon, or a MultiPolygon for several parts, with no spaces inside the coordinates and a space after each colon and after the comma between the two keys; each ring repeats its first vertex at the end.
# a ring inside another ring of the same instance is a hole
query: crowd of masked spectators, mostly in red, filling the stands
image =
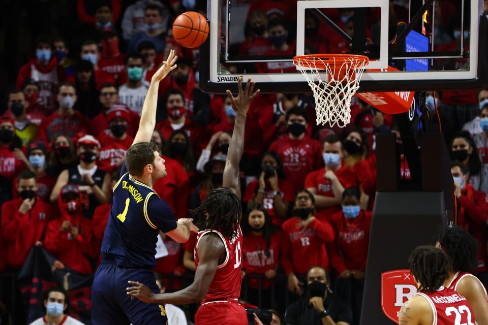
{"type": "MultiPolygon", "coordinates": [[[[252,2],[239,51],[294,53],[291,25],[281,17],[291,2],[252,2]]],[[[178,68],[161,82],[151,139],[168,176],[154,189],[180,218],[222,186],[235,113],[227,95],[200,90],[198,49],[179,47],[170,28],[179,13],[205,9],[191,0],[139,0],[128,7],[120,0],[78,0],[72,18],[85,28],[77,44],[62,33],[38,35],[0,117],[0,272],[18,273],[35,245],[76,272],[96,270],[111,188],[137,131],[148,83],[170,49],[177,50],[178,68]]],[[[336,17],[346,29],[348,14],[336,17]]],[[[306,23],[313,37],[318,21],[308,17],[306,23]]],[[[436,37],[445,44],[462,37],[451,34],[436,37]]],[[[320,51],[338,44],[330,41],[320,51]]],[[[488,88],[436,97],[453,161],[458,223],[478,241],[475,274],[488,286],[488,88]]],[[[359,323],[376,191],[375,137],[399,136],[399,128],[393,116],[357,98],[351,113],[344,129],[319,127],[310,95],[278,93],[260,94],[248,114],[241,299],[273,309],[271,324],[315,324],[321,317],[359,323]]],[[[401,169],[408,181],[403,155],[401,169]]],[[[154,271],[162,290],[175,290],[195,271],[195,239],[178,244],[161,237],[168,255],[156,260],[154,271]]],[[[66,298],[62,289],[51,290],[46,317],[63,319],[66,298]]]]}

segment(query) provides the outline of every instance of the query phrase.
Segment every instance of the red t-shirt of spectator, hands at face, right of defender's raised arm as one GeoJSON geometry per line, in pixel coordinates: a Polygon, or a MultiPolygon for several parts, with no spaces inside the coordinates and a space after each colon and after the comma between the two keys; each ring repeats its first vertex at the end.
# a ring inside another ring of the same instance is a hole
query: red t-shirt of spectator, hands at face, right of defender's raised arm
{"type": "MultiPolygon", "coordinates": [[[[281,226],[285,219],[278,217],[275,210],[275,196],[273,196],[273,190],[268,181],[265,181],[266,187],[263,193],[263,208],[266,209],[273,224],[281,226]]],[[[242,201],[249,202],[256,196],[256,189],[259,187],[259,180],[254,180],[246,187],[246,193],[242,201]]],[[[278,179],[278,187],[283,192],[283,201],[293,202],[295,200],[295,189],[293,183],[287,179],[278,179]]]]}

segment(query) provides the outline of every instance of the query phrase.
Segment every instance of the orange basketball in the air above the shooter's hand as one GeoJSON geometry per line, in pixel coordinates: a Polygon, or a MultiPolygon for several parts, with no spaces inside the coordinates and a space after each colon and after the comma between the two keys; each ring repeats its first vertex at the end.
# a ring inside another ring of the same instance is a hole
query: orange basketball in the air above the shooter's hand
{"type": "Polygon", "coordinates": [[[182,13],[173,22],[173,38],[183,47],[199,47],[207,37],[207,20],[197,12],[182,13]]]}

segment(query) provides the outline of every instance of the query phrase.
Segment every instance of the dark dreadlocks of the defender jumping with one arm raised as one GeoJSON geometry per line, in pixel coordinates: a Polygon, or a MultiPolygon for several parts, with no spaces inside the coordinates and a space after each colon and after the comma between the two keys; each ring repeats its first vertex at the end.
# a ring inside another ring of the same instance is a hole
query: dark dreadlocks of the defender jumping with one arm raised
{"type": "Polygon", "coordinates": [[[237,236],[241,206],[237,196],[228,188],[212,190],[190,213],[197,217],[200,230],[219,230],[229,240],[237,236]]]}

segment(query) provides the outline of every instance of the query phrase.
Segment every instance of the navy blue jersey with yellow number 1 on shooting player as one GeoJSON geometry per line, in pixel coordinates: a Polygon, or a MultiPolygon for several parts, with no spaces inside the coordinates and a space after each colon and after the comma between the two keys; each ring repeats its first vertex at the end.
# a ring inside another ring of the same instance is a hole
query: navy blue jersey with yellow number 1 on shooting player
{"type": "Polygon", "coordinates": [[[158,233],[176,229],[169,205],[151,187],[134,179],[126,164],[113,187],[112,207],[102,242],[102,259],[118,266],[151,268],[156,265],[158,233]]]}

